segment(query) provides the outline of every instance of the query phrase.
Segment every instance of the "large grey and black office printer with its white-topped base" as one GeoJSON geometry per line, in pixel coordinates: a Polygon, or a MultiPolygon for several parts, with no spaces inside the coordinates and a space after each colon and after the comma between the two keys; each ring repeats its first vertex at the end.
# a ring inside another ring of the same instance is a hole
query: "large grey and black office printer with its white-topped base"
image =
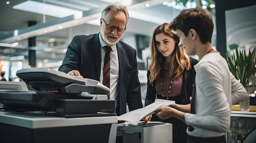
{"type": "Polygon", "coordinates": [[[107,100],[107,87],[44,68],[16,75],[24,82],[0,82],[0,142],[115,142],[115,100],[107,100]]]}

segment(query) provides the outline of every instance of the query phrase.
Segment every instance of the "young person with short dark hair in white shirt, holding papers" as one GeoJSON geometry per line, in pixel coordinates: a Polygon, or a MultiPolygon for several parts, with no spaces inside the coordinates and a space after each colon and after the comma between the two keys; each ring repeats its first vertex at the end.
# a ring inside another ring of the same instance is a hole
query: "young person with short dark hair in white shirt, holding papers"
{"type": "Polygon", "coordinates": [[[188,55],[197,54],[200,58],[194,66],[195,92],[191,108],[174,104],[159,108],[155,114],[162,119],[176,117],[185,121],[189,125],[188,143],[225,143],[231,106],[248,95],[229,71],[226,60],[212,49],[212,17],[201,8],[182,10],[169,28],[176,32],[179,46],[188,55]]]}

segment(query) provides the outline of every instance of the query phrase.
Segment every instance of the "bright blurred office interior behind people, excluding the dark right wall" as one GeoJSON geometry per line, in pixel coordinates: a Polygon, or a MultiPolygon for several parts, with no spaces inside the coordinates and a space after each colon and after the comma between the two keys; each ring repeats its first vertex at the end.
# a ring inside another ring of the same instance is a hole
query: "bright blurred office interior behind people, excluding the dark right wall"
{"type": "MultiPolygon", "coordinates": [[[[154,29],[164,22],[170,23],[180,10],[199,5],[215,21],[212,0],[1,0],[0,69],[5,72],[4,77],[7,81],[19,81],[16,71],[21,68],[58,70],[75,35],[100,31],[100,15],[109,4],[128,8],[130,20],[121,41],[137,50],[139,70],[147,70],[154,29]]],[[[216,45],[216,27],[212,44],[216,45]]]]}

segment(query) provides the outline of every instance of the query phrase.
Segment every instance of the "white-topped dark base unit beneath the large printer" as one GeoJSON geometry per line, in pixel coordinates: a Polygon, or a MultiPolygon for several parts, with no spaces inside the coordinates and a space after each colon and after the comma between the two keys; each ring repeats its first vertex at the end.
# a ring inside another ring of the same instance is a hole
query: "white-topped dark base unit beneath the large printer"
{"type": "Polygon", "coordinates": [[[117,116],[62,118],[0,111],[0,142],[114,143],[117,116]]]}

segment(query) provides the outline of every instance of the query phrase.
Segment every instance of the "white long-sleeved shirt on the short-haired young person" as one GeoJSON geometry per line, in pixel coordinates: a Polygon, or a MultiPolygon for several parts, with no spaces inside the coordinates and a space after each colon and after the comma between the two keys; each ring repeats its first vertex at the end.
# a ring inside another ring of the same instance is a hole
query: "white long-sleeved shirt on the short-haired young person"
{"type": "Polygon", "coordinates": [[[248,97],[246,90],[229,71],[226,60],[219,53],[209,53],[195,68],[195,114],[186,113],[185,122],[195,137],[225,135],[230,127],[231,106],[248,97]]]}

